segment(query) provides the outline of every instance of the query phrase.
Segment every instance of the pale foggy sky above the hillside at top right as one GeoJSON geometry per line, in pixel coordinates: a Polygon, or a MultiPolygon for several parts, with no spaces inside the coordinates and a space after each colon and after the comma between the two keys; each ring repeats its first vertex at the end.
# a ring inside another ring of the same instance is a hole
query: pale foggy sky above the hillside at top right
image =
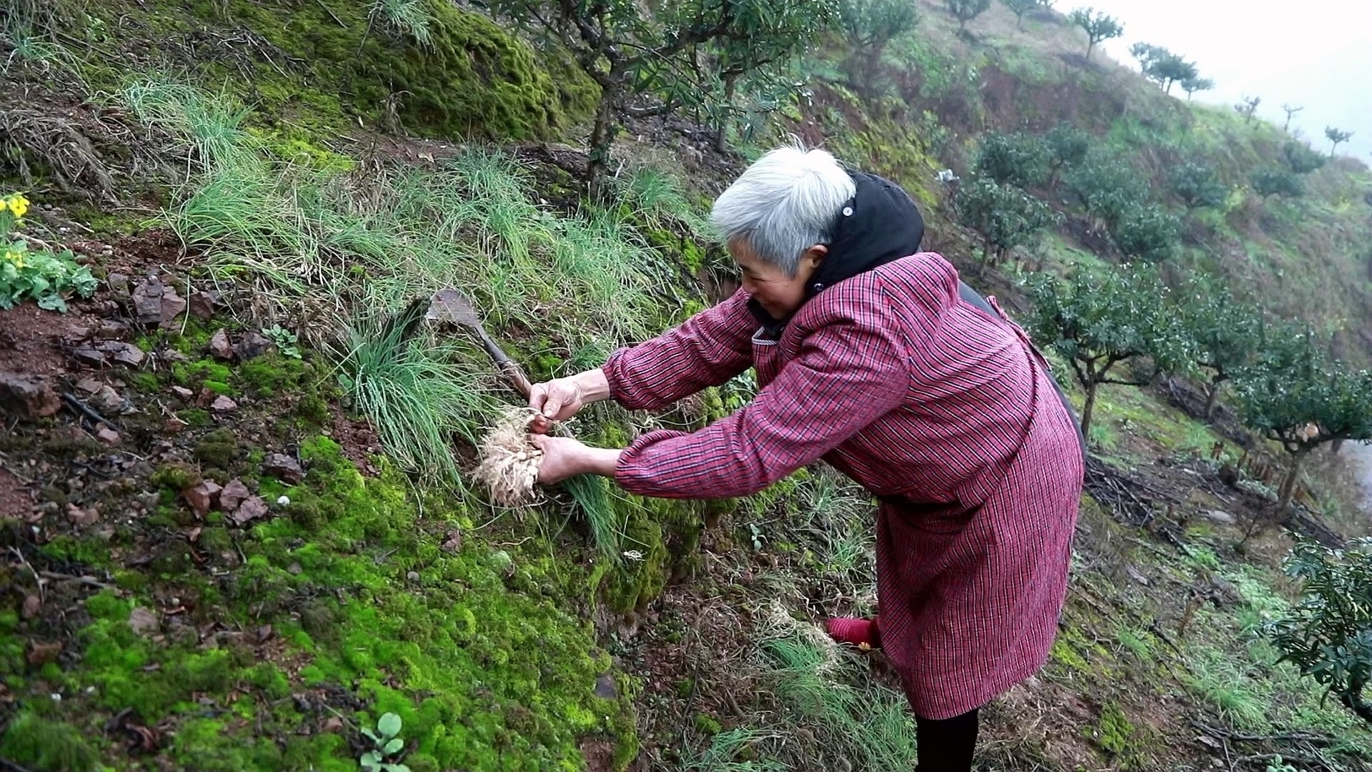
{"type": "MultiPolygon", "coordinates": [[[[1135,43],[1151,43],[1195,62],[1214,89],[1196,102],[1236,104],[1258,96],[1258,114],[1286,121],[1281,104],[1305,106],[1291,129],[1323,152],[1325,126],[1354,132],[1339,146],[1372,166],[1372,0],[1058,0],[1066,14],[1093,7],[1124,23],[1104,49],[1137,67],[1135,43]]],[[[1179,89],[1173,88],[1173,92],[1179,89]]],[[[1183,99],[1184,99],[1183,93],[1183,99]]]]}

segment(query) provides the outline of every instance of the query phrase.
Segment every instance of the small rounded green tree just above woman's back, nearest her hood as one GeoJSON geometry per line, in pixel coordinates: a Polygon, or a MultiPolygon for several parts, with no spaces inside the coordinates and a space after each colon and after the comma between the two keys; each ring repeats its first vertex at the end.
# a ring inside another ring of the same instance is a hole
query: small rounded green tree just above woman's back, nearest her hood
{"type": "Polygon", "coordinates": [[[981,235],[981,265],[1000,262],[1014,247],[1033,243],[1058,220],[1045,202],[1025,191],[975,177],[954,195],[958,223],[981,235]]]}

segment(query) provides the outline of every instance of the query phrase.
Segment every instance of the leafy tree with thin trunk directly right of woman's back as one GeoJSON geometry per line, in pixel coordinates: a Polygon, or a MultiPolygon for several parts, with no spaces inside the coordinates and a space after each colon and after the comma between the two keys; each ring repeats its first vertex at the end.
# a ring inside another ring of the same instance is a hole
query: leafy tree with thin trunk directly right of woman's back
{"type": "Polygon", "coordinates": [[[1065,280],[1040,272],[1029,277],[1026,288],[1033,301],[1033,337],[1072,364],[1087,391],[1081,431],[1088,437],[1102,383],[1147,386],[1159,372],[1173,372],[1188,360],[1168,288],[1150,266],[1078,269],[1065,280]]]}

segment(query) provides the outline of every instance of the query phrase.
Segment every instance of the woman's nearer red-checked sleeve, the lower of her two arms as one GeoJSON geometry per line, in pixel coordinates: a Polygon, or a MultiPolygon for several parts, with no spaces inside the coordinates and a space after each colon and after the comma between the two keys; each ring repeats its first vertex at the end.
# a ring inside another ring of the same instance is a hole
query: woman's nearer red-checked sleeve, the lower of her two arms
{"type": "Polygon", "coordinates": [[[895,409],[910,391],[910,365],[889,305],[875,295],[844,298],[777,379],[734,415],[690,434],[637,438],[620,455],[616,482],[642,496],[746,496],[895,409]]]}

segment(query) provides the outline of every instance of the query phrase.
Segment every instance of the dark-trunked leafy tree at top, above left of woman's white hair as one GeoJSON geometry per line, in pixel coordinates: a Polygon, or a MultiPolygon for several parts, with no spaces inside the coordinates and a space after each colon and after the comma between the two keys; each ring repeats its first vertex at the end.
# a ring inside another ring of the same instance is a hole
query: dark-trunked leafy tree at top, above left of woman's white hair
{"type": "Polygon", "coordinates": [[[638,115],[663,114],[701,95],[727,93],[723,78],[799,54],[836,15],[834,0],[737,0],[668,3],[631,0],[493,0],[493,14],[565,47],[600,85],[590,135],[587,191],[600,196],[620,114],[632,96],[656,104],[638,115]],[[713,58],[716,66],[702,67],[713,58]]]}

